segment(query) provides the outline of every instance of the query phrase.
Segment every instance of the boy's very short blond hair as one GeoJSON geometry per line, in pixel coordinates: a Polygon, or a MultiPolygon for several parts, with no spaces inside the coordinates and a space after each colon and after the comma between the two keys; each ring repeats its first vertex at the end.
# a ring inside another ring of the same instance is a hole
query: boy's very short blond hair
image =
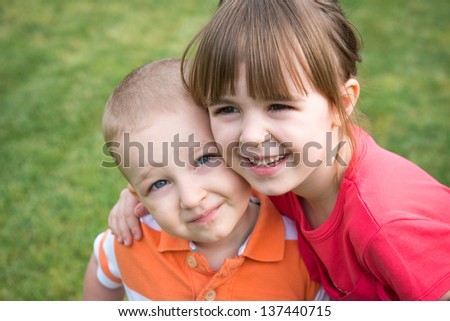
{"type": "Polygon", "coordinates": [[[155,116],[174,111],[185,99],[191,98],[181,81],[179,59],[157,60],[133,70],[106,103],[102,129],[107,147],[124,133],[147,128],[155,116]]]}

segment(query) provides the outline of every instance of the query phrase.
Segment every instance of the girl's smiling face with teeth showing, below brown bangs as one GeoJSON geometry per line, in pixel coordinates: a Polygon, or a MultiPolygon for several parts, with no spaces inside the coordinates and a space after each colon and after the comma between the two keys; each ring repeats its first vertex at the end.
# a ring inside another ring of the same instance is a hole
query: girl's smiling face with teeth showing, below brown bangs
{"type": "Polygon", "coordinates": [[[208,106],[214,138],[227,164],[267,195],[320,194],[321,186],[336,174],[332,164],[339,149],[339,121],[327,99],[308,83],[304,94],[292,81],[291,100],[254,99],[246,84],[241,65],[235,95],[208,106]]]}

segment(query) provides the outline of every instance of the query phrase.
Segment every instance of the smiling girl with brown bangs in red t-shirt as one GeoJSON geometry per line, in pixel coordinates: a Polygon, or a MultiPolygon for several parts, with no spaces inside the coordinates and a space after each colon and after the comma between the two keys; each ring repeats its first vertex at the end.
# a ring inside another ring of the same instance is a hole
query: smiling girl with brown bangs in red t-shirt
{"type": "Polygon", "coordinates": [[[296,221],[333,299],[450,298],[450,189],[355,124],[359,41],[337,1],[223,1],[184,59],[227,164],[296,221]]]}

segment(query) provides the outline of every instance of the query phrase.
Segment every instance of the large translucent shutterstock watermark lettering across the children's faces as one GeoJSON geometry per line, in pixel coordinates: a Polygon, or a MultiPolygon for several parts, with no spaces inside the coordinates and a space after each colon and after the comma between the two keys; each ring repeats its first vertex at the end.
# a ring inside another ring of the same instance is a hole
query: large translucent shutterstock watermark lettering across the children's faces
{"type": "MultiPolygon", "coordinates": [[[[294,148],[292,142],[275,142],[267,141],[261,144],[253,142],[233,142],[226,146],[222,146],[214,141],[200,142],[195,139],[194,134],[188,136],[187,140],[180,140],[180,135],[176,134],[171,142],[162,142],[160,146],[155,146],[153,142],[143,144],[141,142],[130,140],[130,134],[123,135],[123,141],[110,141],[102,146],[102,153],[104,156],[110,156],[114,160],[104,160],[100,164],[101,167],[113,168],[121,166],[129,168],[131,166],[131,155],[137,154],[137,166],[140,168],[151,167],[165,167],[169,165],[171,160],[176,166],[195,166],[197,159],[195,155],[240,155],[239,166],[251,167],[255,166],[261,157],[266,157],[270,166],[270,161],[277,162],[284,157],[289,157],[285,162],[286,167],[295,167],[298,165],[307,167],[319,167],[325,162],[326,166],[332,166],[337,162],[341,166],[347,166],[344,159],[339,155],[339,151],[347,144],[347,141],[340,141],[333,145],[332,134],[326,133],[326,142],[323,146],[319,142],[306,142],[301,148],[300,152],[293,152],[298,150],[294,148]],[[318,159],[318,152],[325,149],[325,159],[318,159]],[[200,150],[200,152],[199,152],[200,150]],[[133,153],[134,151],[134,153],[133,153]],[[158,151],[158,161],[155,160],[155,151],[158,151]],[[183,155],[187,155],[182,160],[183,155]],[[187,158],[187,159],[186,159],[187,158]],[[273,160],[272,160],[273,159],[273,160]]],[[[136,156],[134,156],[136,157],[136,156]]],[[[228,157],[229,161],[234,158],[228,157]]],[[[222,164],[219,159],[211,159],[206,166],[217,167],[222,164]]],[[[227,166],[233,167],[233,164],[227,163],[227,166]]]]}

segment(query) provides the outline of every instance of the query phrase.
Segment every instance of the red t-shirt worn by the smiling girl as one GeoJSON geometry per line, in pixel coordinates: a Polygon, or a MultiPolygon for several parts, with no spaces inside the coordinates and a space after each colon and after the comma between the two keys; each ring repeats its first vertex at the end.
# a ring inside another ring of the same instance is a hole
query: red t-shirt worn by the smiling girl
{"type": "Polygon", "coordinates": [[[450,189],[358,131],[328,220],[311,230],[294,193],[271,197],[295,220],[311,277],[335,300],[435,300],[450,290],[450,189]]]}

